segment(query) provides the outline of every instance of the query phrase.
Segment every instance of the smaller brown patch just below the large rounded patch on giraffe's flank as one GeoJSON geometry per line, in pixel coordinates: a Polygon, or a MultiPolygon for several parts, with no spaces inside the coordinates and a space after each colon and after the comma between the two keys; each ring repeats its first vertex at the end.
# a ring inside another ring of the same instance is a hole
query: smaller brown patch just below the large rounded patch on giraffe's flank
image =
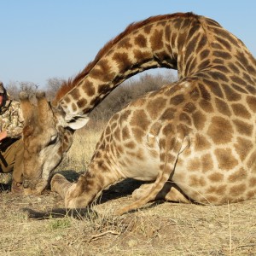
{"type": "Polygon", "coordinates": [[[238,165],[238,161],[232,154],[230,148],[218,148],[214,151],[218,160],[218,167],[221,170],[229,171],[238,165]]]}

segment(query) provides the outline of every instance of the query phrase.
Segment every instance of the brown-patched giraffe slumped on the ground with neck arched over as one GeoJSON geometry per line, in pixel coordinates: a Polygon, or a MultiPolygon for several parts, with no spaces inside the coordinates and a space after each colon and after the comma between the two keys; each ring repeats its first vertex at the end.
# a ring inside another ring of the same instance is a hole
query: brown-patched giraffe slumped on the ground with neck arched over
{"type": "Polygon", "coordinates": [[[52,102],[39,95],[37,111],[21,97],[25,187],[44,189],[90,111],[125,79],[154,67],[177,69],[178,81],[115,113],[87,172],[75,183],[55,174],[51,189],[67,208],[82,208],[127,177],[150,182],[117,214],[160,197],[213,205],[253,198],[256,61],[218,22],[192,13],[131,24],[63,84],[52,102]],[[38,186],[42,180],[44,186],[38,186]]]}

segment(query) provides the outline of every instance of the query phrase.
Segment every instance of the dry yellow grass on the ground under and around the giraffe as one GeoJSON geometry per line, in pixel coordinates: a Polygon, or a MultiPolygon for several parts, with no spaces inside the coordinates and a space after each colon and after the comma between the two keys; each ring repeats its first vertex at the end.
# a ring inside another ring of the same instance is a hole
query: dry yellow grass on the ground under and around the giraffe
{"type": "MultiPolygon", "coordinates": [[[[59,171],[83,171],[100,130],[77,132],[59,171]]],[[[37,197],[14,196],[4,190],[0,255],[256,255],[256,200],[221,207],[160,201],[113,216],[114,209],[131,202],[131,191],[139,184],[127,180],[113,185],[92,206],[98,218],[92,212],[82,220],[28,219],[22,207],[63,207],[60,196],[49,191],[37,197]]]]}

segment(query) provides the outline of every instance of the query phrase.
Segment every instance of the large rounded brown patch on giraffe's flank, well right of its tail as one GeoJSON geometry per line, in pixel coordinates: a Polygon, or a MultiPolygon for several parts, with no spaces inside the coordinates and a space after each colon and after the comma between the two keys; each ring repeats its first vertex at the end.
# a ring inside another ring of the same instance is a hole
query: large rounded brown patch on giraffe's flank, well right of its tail
{"type": "Polygon", "coordinates": [[[222,117],[213,117],[207,134],[216,144],[230,143],[233,137],[233,128],[230,121],[222,117]]]}

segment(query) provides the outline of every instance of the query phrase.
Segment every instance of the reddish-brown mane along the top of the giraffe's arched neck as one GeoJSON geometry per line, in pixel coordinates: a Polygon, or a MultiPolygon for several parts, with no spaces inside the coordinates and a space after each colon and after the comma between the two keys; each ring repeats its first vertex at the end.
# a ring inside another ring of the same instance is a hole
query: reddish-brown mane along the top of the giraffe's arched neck
{"type": "Polygon", "coordinates": [[[59,102],[61,98],[73,88],[76,87],[77,84],[79,84],[79,81],[81,79],[84,79],[84,77],[90,73],[90,70],[95,67],[96,63],[102,58],[103,55],[105,55],[109,49],[111,49],[115,44],[117,44],[120,40],[125,38],[128,34],[131,32],[137,30],[140,27],[146,26],[150,23],[153,23],[155,21],[160,21],[160,20],[169,20],[173,17],[195,17],[197,15],[194,15],[193,13],[176,13],[176,14],[171,14],[171,15],[157,15],[157,16],[152,16],[149,17],[146,20],[138,21],[138,22],[133,22],[129,26],[126,27],[124,32],[121,32],[117,37],[113,38],[110,40],[107,44],[105,44],[102,49],[99,50],[99,52],[96,55],[96,58],[94,61],[91,61],[86,67],[84,67],[84,70],[82,70],[80,73],[78,73],[74,78],[68,79],[67,81],[64,81],[61,85],[61,88],[57,91],[55,95],[55,100],[54,102],[59,102]]]}

